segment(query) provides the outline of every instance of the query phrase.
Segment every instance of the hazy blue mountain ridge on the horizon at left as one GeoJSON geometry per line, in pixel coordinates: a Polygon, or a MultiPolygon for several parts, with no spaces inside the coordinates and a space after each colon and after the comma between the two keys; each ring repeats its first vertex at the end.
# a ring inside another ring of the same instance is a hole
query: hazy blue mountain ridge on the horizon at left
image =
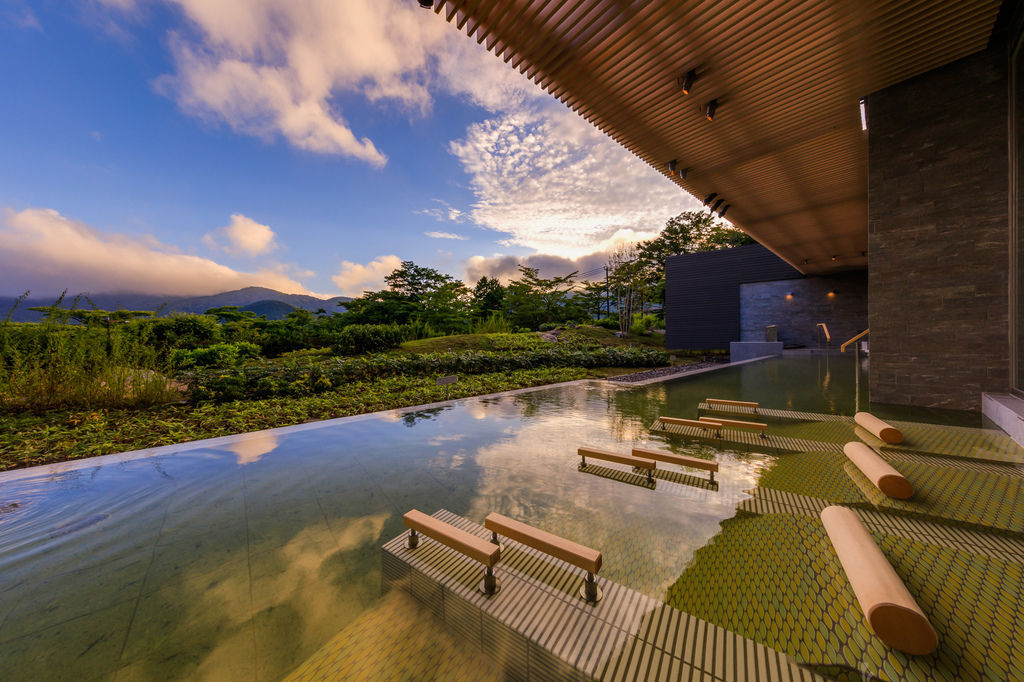
{"type": "MultiPolygon", "coordinates": [[[[30,307],[40,305],[52,305],[55,296],[30,298],[18,305],[11,319],[14,322],[38,322],[42,318],[42,313],[29,310],[30,307]]],[[[71,307],[75,297],[68,295],[63,300],[63,307],[71,307]]],[[[0,296],[0,319],[7,315],[7,311],[14,305],[17,299],[13,296],[0,296]]],[[[237,291],[225,291],[221,294],[210,296],[157,296],[154,294],[83,294],[79,297],[77,306],[80,308],[101,308],[103,310],[116,310],[121,307],[126,310],[159,310],[160,316],[170,315],[175,312],[206,312],[210,308],[218,308],[224,305],[237,305],[239,307],[253,309],[257,314],[266,314],[267,319],[280,319],[295,308],[303,308],[315,312],[324,308],[328,312],[340,312],[339,303],[352,300],[347,296],[334,296],[332,298],[316,298],[305,294],[285,294],[265,287],[246,287],[237,291]],[[279,305],[280,304],[280,305],[279,305]],[[248,308],[248,306],[258,306],[260,310],[248,308]],[[282,307],[286,306],[286,307],[282,307]],[[263,312],[266,310],[266,312],[263,312]],[[274,315],[271,317],[271,313],[274,315]],[[280,316],[278,316],[280,315],[280,316]]]]}

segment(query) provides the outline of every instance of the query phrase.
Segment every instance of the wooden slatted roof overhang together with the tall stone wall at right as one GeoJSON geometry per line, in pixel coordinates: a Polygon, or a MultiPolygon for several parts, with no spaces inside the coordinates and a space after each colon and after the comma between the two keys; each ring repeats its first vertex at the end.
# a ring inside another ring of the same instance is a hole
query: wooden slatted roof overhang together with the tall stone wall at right
{"type": "Polygon", "coordinates": [[[866,268],[872,400],[1024,395],[1021,3],[433,8],[800,275],[866,268]]]}

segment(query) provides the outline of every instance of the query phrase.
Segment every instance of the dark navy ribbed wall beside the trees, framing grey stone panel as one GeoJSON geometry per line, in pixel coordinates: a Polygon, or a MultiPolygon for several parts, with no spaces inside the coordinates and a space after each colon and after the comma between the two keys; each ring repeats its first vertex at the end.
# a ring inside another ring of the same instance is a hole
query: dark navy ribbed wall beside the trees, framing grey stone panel
{"type": "Polygon", "coordinates": [[[727,349],[739,340],[739,285],[800,272],[760,244],[665,261],[665,347],[727,349]]]}

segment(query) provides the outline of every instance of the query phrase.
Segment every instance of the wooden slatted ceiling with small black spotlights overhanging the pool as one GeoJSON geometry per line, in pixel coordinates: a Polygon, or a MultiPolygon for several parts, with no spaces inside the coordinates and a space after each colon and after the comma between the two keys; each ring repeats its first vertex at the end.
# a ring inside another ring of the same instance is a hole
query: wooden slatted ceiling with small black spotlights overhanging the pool
{"type": "Polygon", "coordinates": [[[673,180],[718,193],[737,226],[819,273],[867,262],[859,98],[984,49],[999,4],[437,0],[435,11],[658,171],[690,168],[673,180]],[[690,69],[687,96],[677,79],[690,69]]]}

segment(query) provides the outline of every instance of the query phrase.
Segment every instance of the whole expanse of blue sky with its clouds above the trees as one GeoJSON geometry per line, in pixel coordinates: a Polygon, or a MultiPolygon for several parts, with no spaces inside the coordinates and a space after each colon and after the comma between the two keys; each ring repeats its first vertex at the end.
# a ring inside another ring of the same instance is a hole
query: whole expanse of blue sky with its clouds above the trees
{"type": "Polygon", "coordinates": [[[0,294],[591,269],[695,201],[411,0],[0,0],[0,294]]]}

